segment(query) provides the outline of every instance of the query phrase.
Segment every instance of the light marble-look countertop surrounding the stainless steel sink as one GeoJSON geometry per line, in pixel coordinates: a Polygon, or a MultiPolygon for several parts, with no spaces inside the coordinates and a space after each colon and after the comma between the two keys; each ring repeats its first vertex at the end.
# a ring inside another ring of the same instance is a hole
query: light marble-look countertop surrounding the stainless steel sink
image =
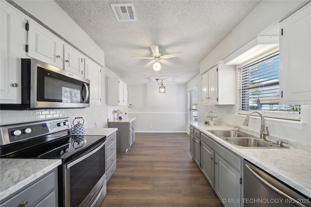
{"type": "MultiPolygon", "coordinates": [[[[225,142],[207,130],[232,129],[226,126],[207,126],[204,123],[193,127],[210,138],[270,173],[297,191],[311,198],[311,153],[296,148],[245,149],[225,142]]],[[[269,138],[268,138],[269,139],[269,138]]]]}

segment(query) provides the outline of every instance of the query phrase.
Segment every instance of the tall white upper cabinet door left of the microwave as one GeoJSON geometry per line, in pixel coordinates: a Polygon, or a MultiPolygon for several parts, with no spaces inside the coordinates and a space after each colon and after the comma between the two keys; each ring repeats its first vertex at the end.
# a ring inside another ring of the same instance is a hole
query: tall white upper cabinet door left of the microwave
{"type": "Polygon", "coordinates": [[[0,6],[0,103],[21,104],[21,60],[27,58],[27,19],[11,5],[0,6]]]}

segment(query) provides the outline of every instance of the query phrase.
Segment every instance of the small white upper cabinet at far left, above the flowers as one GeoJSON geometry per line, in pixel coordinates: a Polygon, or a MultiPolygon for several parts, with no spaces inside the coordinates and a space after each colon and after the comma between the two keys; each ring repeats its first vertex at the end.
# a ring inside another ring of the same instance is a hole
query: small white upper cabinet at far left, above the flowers
{"type": "Polygon", "coordinates": [[[120,79],[108,79],[108,105],[127,104],[127,84],[120,79]]]}

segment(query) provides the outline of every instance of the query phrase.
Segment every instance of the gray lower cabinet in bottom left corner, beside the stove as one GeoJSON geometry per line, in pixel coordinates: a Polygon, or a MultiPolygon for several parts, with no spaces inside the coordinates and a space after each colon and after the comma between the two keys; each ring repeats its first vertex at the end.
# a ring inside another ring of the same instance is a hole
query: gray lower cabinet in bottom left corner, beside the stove
{"type": "Polygon", "coordinates": [[[0,206],[58,207],[57,168],[4,199],[0,206]]]}

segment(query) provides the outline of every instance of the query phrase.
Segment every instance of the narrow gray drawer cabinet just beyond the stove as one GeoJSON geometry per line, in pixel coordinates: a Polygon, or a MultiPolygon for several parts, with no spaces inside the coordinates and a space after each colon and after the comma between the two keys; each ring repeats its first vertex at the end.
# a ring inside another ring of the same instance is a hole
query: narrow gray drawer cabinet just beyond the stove
{"type": "Polygon", "coordinates": [[[106,141],[106,176],[107,182],[117,168],[117,133],[107,137],[106,141]]]}

